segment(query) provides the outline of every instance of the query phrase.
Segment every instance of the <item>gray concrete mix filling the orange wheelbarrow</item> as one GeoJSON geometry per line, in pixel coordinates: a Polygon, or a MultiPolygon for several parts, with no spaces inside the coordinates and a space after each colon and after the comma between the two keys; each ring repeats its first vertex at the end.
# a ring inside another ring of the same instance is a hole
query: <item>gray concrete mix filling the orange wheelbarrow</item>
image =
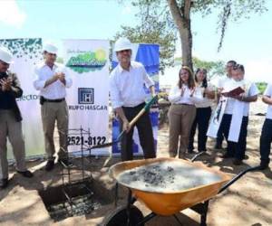
{"type": "Polygon", "coordinates": [[[179,192],[219,182],[221,177],[208,170],[182,162],[141,165],[118,175],[117,180],[131,188],[147,192],[179,192]]]}

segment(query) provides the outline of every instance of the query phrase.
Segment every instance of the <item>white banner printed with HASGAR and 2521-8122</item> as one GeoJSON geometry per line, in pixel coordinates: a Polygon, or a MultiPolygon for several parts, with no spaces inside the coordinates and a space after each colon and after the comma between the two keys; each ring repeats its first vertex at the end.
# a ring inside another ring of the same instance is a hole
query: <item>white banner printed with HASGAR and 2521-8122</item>
{"type": "MultiPolygon", "coordinates": [[[[82,144],[86,150],[108,140],[110,43],[106,40],[64,40],[63,47],[67,73],[73,80],[72,88],[67,89],[68,149],[80,154],[82,144]]],[[[108,154],[108,148],[92,150],[92,155],[108,154]]]]}

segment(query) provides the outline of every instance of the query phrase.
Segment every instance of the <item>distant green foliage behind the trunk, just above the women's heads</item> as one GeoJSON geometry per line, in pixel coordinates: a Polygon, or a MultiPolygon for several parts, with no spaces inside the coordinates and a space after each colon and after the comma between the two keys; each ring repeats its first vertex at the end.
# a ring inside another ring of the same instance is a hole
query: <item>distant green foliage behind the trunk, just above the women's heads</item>
{"type": "MultiPolygon", "coordinates": [[[[175,58],[175,61],[182,61],[180,58],[175,58]]],[[[193,57],[193,69],[196,71],[198,68],[206,69],[208,71],[209,79],[214,76],[224,76],[225,71],[225,62],[224,61],[202,61],[197,57],[193,57]]]]}

